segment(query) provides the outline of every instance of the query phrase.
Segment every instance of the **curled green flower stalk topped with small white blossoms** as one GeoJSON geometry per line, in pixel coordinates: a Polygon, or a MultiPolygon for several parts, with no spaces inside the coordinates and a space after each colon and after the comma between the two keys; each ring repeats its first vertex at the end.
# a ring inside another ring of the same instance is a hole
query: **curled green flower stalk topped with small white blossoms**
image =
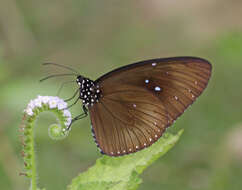
{"type": "Polygon", "coordinates": [[[70,129],[66,129],[71,123],[71,113],[67,110],[67,103],[64,100],[53,96],[38,96],[29,102],[27,108],[24,110],[24,117],[20,126],[20,132],[22,133],[21,142],[23,145],[21,154],[24,158],[24,168],[26,170],[24,173],[20,173],[20,175],[31,178],[31,190],[39,190],[36,180],[33,129],[38,115],[44,111],[51,111],[59,121],[59,124],[52,124],[49,127],[48,133],[50,138],[54,140],[64,139],[70,131],[70,129]]]}

